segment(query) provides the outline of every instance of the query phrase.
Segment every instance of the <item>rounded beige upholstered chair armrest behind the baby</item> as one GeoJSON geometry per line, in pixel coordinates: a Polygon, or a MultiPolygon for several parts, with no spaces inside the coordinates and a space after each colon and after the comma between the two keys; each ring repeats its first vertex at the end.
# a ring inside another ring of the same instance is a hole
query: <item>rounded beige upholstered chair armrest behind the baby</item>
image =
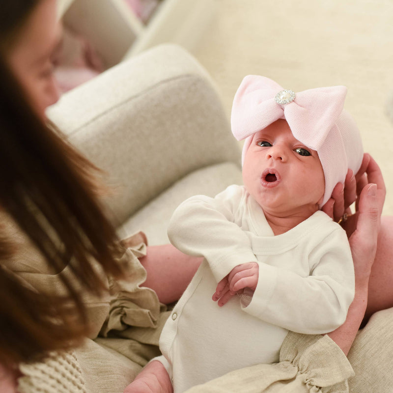
{"type": "Polygon", "coordinates": [[[222,102],[206,71],[176,45],[132,57],[64,94],[48,117],[108,174],[122,224],[191,171],[239,165],[222,102]]]}

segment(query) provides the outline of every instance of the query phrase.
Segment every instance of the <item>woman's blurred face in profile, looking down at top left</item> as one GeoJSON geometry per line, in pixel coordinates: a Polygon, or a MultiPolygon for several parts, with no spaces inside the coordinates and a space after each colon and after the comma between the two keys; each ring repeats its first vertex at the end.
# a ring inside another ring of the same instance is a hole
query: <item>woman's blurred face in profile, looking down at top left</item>
{"type": "Polygon", "coordinates": [[[56,0],[40,0],[17,33],[8,54],[11,69],[41,118],[45,118],[45,109],[59,98],[53,59],[59,48],[60,36],[56,0]]]}

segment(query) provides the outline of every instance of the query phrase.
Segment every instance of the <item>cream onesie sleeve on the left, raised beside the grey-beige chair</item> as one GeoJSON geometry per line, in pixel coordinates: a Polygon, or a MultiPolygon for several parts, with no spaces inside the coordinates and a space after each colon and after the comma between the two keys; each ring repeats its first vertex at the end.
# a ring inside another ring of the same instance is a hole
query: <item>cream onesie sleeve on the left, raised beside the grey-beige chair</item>
{"type": "Polygon", "coordinates": [[[229,186],[216,197],[198,195],[174,211],[168,226],[170,242],[181,252],[204,256],[221,281],[237,265],[256,262],[251,241],[239,226],[244,188],[229,186]]]}

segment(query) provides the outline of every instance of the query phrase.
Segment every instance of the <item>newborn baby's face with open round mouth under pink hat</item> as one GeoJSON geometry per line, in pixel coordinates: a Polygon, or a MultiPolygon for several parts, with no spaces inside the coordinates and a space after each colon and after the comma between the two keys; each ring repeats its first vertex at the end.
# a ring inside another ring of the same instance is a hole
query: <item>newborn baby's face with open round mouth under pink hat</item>
{"type": "Polygon", "coordinates": [[[246,152],[243,182],[265,213],[308,218],[319,209],[325,179],[318,153],[277,120],[257,132],[246,152]]]}

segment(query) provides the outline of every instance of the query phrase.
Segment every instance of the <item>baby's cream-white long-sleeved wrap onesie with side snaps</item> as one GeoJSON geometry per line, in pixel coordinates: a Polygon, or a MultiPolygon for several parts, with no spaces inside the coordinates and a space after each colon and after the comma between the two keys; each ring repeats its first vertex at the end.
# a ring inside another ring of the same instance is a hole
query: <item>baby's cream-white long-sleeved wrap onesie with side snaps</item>
{"type": "Polygon", "coordinates": [[[324,334],[346,318],[354,269],[345,231],[321,211],[274,236],[263,210],[243,186],[215,198],[196,196],[174,212],[171,243],[204,261],[160,337],[161,361],[174,393],[234,369],[275,363],[288,330],[324,334]],[[235,266],[257,262],[251,302],[212,300],[235,266]]]}

